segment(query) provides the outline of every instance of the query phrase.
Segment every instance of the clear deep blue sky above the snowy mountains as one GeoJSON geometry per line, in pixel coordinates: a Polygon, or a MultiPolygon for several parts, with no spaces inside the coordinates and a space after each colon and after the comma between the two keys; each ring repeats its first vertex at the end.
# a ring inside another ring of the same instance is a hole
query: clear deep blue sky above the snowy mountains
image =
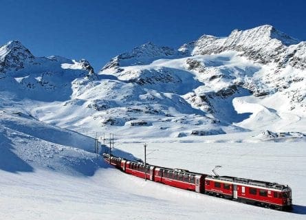
{"type": "Polygon", "coordinates": [[[306,41],[306,1],[2,0],[0,45],[19,40],[35,56],[86,58],[96,72],[146,42],[179,47],[201,34],[271,24],[306,41]]]}

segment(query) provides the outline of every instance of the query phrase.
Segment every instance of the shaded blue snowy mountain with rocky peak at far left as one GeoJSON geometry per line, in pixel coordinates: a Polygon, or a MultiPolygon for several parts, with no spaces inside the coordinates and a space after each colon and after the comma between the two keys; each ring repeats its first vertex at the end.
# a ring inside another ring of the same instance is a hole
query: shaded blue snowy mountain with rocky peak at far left
{"type": "Polygon", "coordinates": [[[96,78],[88,61],[35,57],[19,41],[0,47],[0,76],[1,91],[33,100],[67,100],[74,79],[96,78]]]}

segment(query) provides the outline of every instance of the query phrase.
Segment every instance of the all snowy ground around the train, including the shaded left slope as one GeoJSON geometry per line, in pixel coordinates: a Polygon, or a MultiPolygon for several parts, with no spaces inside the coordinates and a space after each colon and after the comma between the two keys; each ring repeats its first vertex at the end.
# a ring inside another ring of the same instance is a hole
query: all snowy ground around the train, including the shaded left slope
{"type": "Polygon", "coordinates": [[[220,175],[288,184],[290,213],[145,182],[105,164],[92,153],[91,137],[40,122],[17,107],[0,113],[0,219],[305,219],[306,148],[298,133],[115,135],[114,153],[123,157],[143,159],[146,142],[151,164],[203,173],[222,165],[220,175]]]}

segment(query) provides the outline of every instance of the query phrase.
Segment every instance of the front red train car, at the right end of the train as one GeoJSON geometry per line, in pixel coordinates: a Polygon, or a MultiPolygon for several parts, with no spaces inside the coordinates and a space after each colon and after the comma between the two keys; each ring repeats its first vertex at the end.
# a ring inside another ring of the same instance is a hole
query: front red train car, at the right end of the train
{"type": "Polygon", "coordinates": [[[292,209],[292,190],[289,186],[228,176],[208,176],[205,192],[244,203],[279,210],[292,209]]]}

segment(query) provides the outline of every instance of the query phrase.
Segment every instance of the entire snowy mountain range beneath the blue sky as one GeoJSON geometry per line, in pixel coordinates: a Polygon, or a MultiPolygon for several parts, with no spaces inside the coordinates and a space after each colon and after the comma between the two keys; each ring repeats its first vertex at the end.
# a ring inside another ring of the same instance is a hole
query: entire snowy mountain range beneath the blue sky
{"type": "Polygon", "coordinates": [[[76,131],[299,131],[306,114],[305,42],[270,25],[226,38],[204,35],[178,50],[146,43],[112,58],[99,74],[85,60],[35,57],[18,41],[0,51],[1,91],[35,118],[76,131]],[[284,126],[295,117],[301,120],[284,126]]]}

